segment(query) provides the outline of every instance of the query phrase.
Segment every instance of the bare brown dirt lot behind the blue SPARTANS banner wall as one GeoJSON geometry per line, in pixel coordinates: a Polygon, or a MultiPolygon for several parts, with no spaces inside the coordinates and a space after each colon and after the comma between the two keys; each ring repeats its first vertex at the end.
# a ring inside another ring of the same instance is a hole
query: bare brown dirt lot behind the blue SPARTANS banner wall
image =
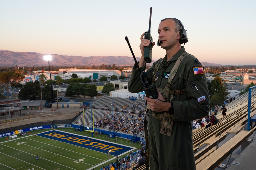
{"type": "Polygon", "coordinates": [[[60,108],[52,111],[51,108],[43,110],[23,110],[22,116],[9,118],[9,114],[0,116],[0,129],[19,126],[23,124],[52,121],[57,119],[72,119],[82,108],[60,108]]]}

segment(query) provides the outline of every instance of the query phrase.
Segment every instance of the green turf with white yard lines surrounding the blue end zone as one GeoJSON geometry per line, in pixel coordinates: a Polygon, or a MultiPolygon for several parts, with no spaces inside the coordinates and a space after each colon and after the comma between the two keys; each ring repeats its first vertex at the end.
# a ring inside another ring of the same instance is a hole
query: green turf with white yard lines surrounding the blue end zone
{"type": "MultiPolygon", "coordinates": [[[[50,129],[40,129],[30,131],[28,135],[18,136],[17,138],[6,139],[7,137],[0,138],[0,169],[101,169],[108,164],[108,155],[105,153],[93,151],[83,147],[71,145],[69,143],[60,142],[33,134],[45,132],[50,129]],[[38,155],[39,160],[36,160],[38,155]],[[104,163],[103,163],[104,162],[104,163]],[[103,163],[103,164],[102,164],[103,163]]],[[[73,128],[60,128],[59,130],[74,133],[73,128]]],[[[77,131],[77,135],[89,136],[89,132],[77,131]]],[[[107,140],[107,135],[94,135],[94,138],[107,140]]],[[[115,142],[115,139],[109,138],[110,142],[115,142]]],[[[134,150],[139,148],[140,145],[132,144],[127,139],[118,138],[116,143],[132,146],[134,150]]],[[[123,156],[126,156],[124,153],[123,156]]],[[[115,157],[110,155],[110,162],[115,162],[115,157]]]]}

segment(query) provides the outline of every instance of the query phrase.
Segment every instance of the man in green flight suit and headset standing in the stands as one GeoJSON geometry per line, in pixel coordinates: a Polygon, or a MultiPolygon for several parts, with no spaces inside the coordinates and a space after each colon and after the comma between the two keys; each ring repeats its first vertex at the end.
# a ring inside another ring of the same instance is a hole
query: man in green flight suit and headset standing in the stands
{"type": "MultiPolygon", "coordinates": [[[[208,114],[209,91],[201,63],[181,47],[184,42],[180,40],[186,38],[185,31],[178,19],[166,18],[160,22],[158,45],[166,50],[166,55],[147,70],[158,89],[159,99],[145,97],[150,170],[195,169],[190,121],[208,114]]],[[[146,69],[144,47],[150,44],[143,35],[142,57],[138,62],[141,71],[146,69]]],[[[132,93],[144,91],[135,65],[128,89],[132,93]]]]}

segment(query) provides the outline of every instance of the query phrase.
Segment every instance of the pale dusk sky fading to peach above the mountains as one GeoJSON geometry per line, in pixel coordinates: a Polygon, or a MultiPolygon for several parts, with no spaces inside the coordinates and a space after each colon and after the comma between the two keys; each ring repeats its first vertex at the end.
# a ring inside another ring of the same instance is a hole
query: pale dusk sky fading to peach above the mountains
{"type": "MultiPolygon", "coordinates": [[[[0,1],[0,49],[73,56],[141,57],[140,36],[158,40],[158,24],[177,18],[187,30],[185,49],[200,62],[256,65],[256,1],[0,1]]],[[[182,44],[183,46],[183,44],[182,44]]],[[[153,47],[152,60],[165,56],[153,47]]]]}

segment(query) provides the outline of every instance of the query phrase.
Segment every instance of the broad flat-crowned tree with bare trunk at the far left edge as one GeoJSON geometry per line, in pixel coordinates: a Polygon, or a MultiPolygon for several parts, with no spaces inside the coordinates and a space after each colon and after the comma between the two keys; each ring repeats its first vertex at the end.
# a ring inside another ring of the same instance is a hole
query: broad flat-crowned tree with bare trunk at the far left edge
{"type": "Polygon", "coordinates": [[[12,82],[21,82],[25,78],[24,75],[15,72],[0,73],[0,82],[3,82],[7,88],[7,99],[9,99],[9,84],[12,82]]]}

